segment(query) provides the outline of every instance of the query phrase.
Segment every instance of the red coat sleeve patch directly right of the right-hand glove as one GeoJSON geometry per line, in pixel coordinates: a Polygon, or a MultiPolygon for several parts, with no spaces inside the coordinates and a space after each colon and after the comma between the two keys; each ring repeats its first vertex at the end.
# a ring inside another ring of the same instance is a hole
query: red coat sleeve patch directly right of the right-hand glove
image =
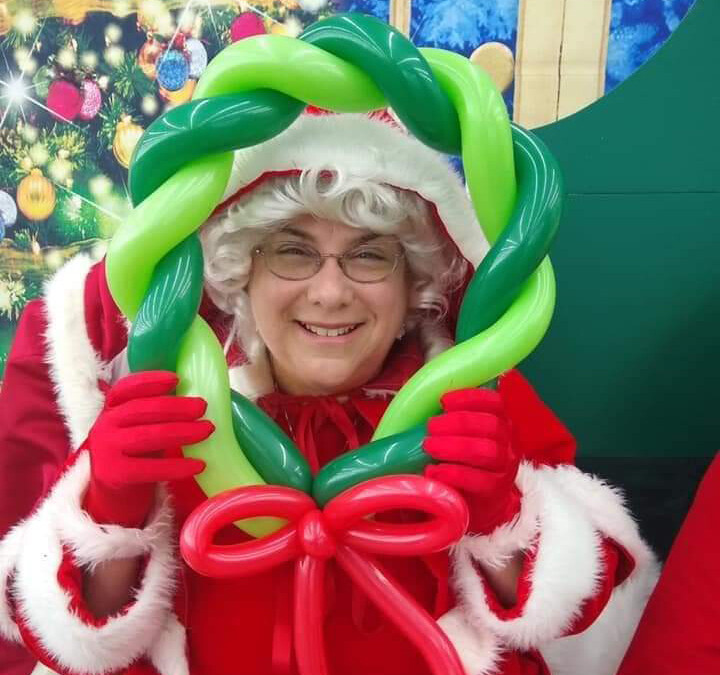
{"type": "Polygon", "coordinates": [[[521,457],[551,466],[575,463],[575,439],[520,371],[505,373],[498,391],[510,418],[513,447],[521,457]]]}

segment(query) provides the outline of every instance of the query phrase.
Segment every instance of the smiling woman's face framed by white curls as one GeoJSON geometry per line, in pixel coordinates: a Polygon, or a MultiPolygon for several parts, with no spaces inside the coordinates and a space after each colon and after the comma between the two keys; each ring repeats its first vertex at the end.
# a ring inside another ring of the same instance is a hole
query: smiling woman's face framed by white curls
{"type": "MultiPolygon", "coordinates": [[[[370,237],[373,245],[400,251],[390,237],[310,216],[265,243],[298,242],[340,255],[370,237]]],[[[275,379],[290,394],[338,394],[371,380],[402,333],[409,303],[403,258],[383,281],[359,283],[345,276],[335,258],[325,258],[309,279],[290,281],[256,255],[247,291],[275,379]]]]}

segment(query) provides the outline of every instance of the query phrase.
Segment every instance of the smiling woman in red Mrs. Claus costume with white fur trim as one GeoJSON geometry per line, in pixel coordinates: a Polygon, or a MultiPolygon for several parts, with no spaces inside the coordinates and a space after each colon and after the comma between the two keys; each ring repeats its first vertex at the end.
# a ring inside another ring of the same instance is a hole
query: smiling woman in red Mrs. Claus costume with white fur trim
{"type": "MultiPolygon", "coordinates": [[[[201,232],[201,314],[232,387],[317,470],[367,442],[450,345],[464,258],[487,245],[446,161],[387,117],[305,115],[237,153],[226,197],[201,232]]],[[[60,672],[293,672],[289,568],[177,572],[172,520],[202,501],[204,466],[178,447],[212,425],[202,400],[169,396],[172,374],[128,376],[126,342],[102,264],[70,262],[26,310],[3,390],[2,476],[16,490],[2,512],[11,524],[38,507],[2,543],[0,630],[60,672]]],[[[465,497],[467,536],[452,559],[386,567],[468,673],[614,672],[654,575],[620,497],[572,466],[574,441],[517,372],[443,409],[426,475],[465,497]]],[[[341,571],[329,577],[332,672],[428,672],[341,571]]]]}

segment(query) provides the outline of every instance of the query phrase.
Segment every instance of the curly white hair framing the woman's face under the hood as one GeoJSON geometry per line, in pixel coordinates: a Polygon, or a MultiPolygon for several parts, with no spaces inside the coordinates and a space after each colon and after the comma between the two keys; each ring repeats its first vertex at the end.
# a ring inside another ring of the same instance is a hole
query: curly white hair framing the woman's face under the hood
{"type": "Polygon", "coordinates": [[[464,279],[467,262],[438,231],[430,205],[408,190],[359,180],[340,170],[306,170],[265,180],[200,230],[205,287],[213,302],[234,317],[225,345],[239,339],[248,360],[265,346],[255,328],[245,291],[253,250],[297,218],[314,218],[393,234],[402,245],[411,280],[406,330],[418,328],[427,358],[452,340],[442,319],[448,295],[464,279]]]}

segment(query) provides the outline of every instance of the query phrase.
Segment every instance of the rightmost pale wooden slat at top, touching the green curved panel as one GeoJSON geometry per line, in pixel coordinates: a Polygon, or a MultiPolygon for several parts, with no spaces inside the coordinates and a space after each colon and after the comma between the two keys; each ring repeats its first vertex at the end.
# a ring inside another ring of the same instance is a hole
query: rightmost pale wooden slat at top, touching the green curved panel
{"type": "Polygon", "coordinates": [[[605,92],[612,0],[565,0],[558,119],[605,92]]]}

